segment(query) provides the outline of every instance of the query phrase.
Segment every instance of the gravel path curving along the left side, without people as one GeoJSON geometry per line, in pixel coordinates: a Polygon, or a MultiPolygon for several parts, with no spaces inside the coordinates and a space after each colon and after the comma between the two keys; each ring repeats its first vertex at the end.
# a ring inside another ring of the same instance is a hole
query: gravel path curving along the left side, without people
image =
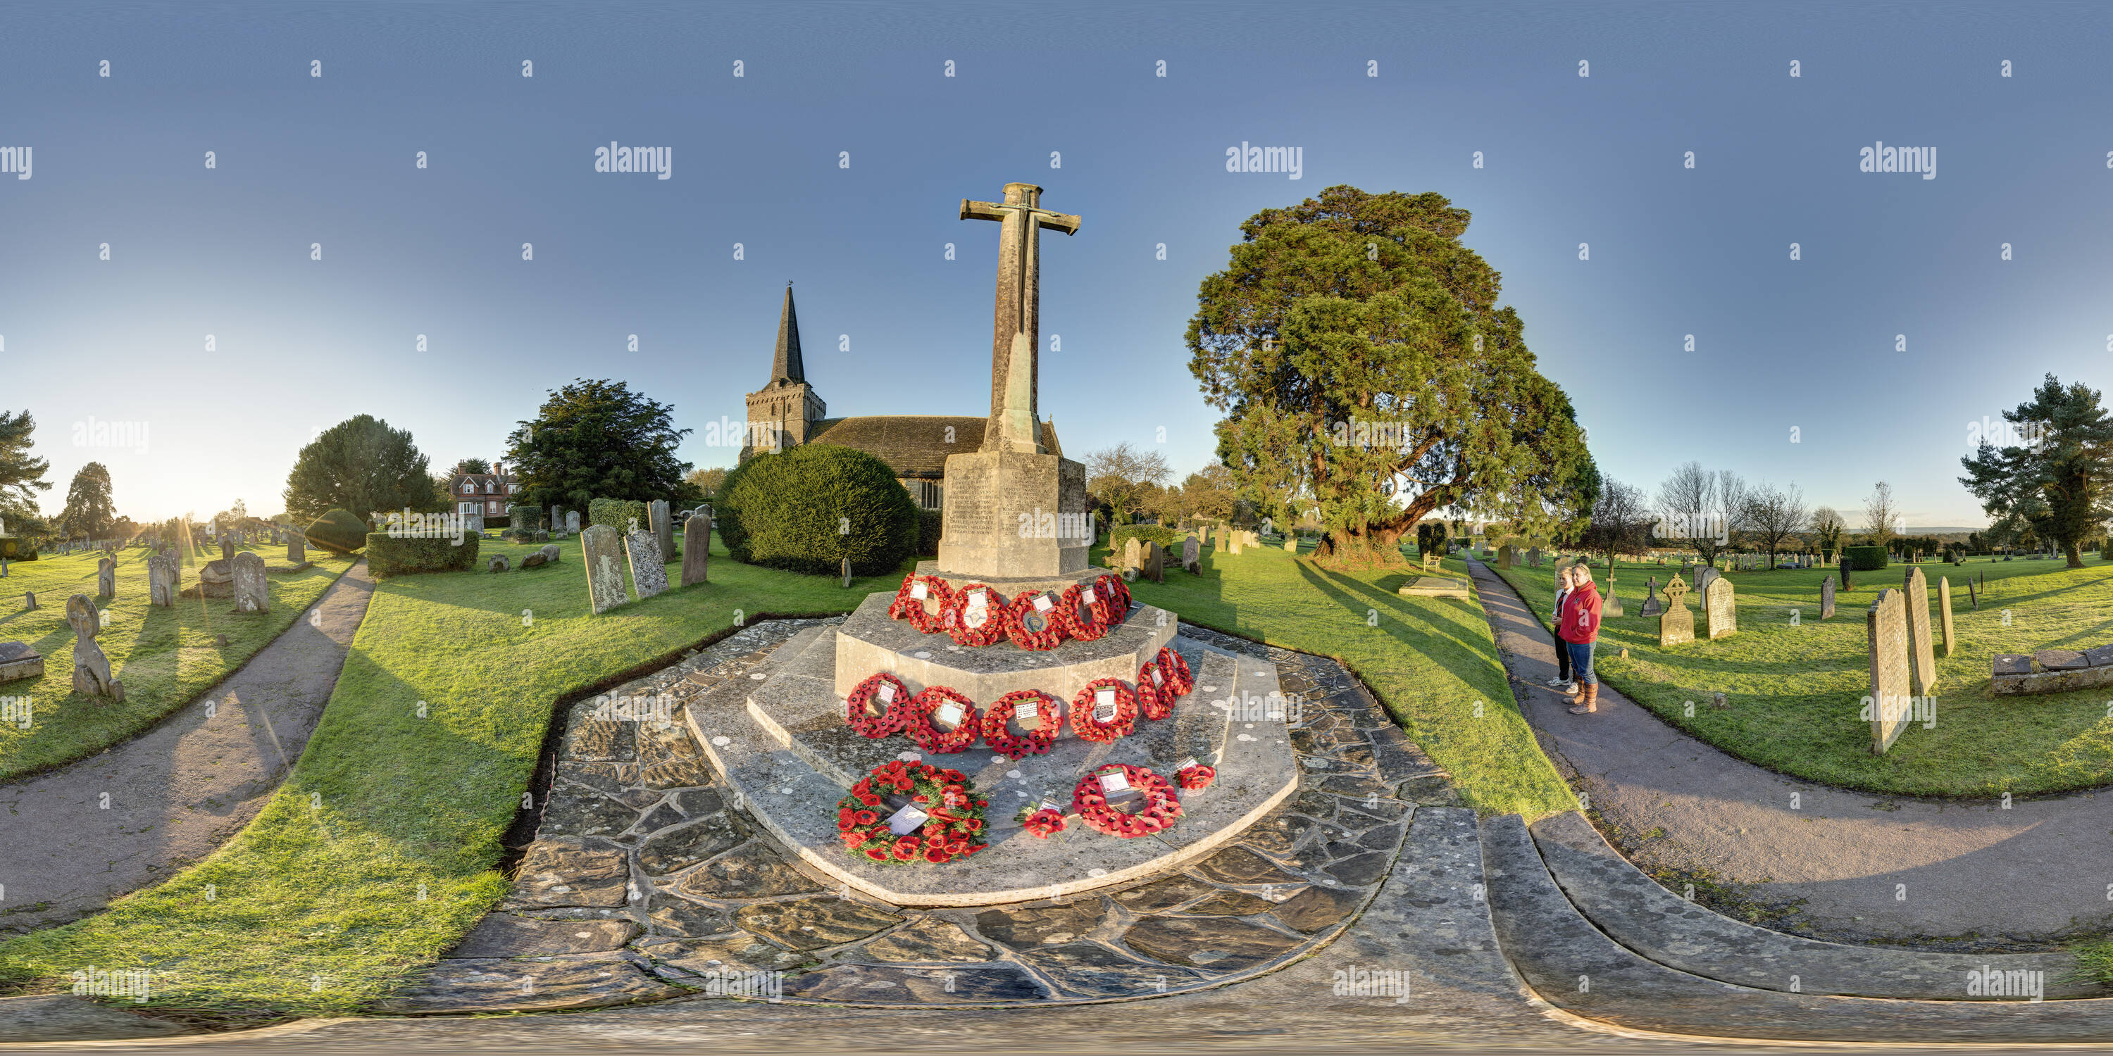
{"type": "Polygon", "coordinates": [[[372,596],[359,562],[313,612],[158,727],[0,786],[0,934],[87,917],[249,824],[308,743],[372,596]]]}

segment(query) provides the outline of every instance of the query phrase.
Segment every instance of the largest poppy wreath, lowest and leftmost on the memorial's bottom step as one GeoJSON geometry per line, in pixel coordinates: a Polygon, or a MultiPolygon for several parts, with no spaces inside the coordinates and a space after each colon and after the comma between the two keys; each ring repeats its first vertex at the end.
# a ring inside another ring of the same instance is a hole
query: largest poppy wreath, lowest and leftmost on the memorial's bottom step
{"type": "Polygon", "coordinates": [[[976,786],[961,771],[896,760],[875,767],[852,786],[849,796],[837,800],[837,836],[845,851],[875,862],[942,866],[987,847],[976,843],[985,807],[989,803],[976,798],[976,786]],[[911,807],[923,811],[923,822],[898,836],[887,828],[894,811],[885,796],[909,798],[911,807]]]}

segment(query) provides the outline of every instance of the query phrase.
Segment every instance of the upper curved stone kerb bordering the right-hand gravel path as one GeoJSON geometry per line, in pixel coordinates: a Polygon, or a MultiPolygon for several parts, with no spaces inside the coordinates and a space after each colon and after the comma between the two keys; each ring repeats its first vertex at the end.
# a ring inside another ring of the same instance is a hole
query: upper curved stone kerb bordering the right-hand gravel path
{"type": "Polygon", "coordinates": [[[2041,972],[2047,999],[2100,997],[2069,953],[1969,955],[1785,936],[1697,906],[1621,857],[1576,811],[1530,826],[1570,904],[1614,942],[1693,976],[1760,991],[1961,1001],[1969,972],[2041,972]]]}

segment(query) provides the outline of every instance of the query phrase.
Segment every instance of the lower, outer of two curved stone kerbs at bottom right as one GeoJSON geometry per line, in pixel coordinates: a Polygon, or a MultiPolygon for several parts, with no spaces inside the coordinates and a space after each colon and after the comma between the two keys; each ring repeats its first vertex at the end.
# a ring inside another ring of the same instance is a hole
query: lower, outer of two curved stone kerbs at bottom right
{"type": "MultiPolygon", "coordinates": [[[[1504,957],[1555,1010],[1629,1031],[1777,1041],[2024,1043],[2113,1037],[2113,1001],[1904,1001],[1762,991],[1693,976],[1593,927],[1519,815],[1481,822],[1504,957]]],[[[1993,959],[1990,959],[1993,967],[1993,959]]]]}

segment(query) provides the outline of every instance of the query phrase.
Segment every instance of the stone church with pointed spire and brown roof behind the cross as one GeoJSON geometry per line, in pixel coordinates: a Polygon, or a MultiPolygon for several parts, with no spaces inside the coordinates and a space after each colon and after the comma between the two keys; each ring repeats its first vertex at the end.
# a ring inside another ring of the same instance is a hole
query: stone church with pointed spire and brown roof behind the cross
{"type": "MultiPolygon", "coordinates": [[[[983,414],[866,414],[858,418],[824,418],[828,406],[807,384],[807,367],[799,355],[799,315],[792,310],[792,283],[786,283],[786,306],[778,315],[778,353],[771,357],[771,380],[748,393],[750,454],[792,448],[797,444],[837,444],[858,448],[896,471],[921,509],[940,509],[945,501],[947,456],[983,448],[983,414]]],[[[1042,446],[1056,446],[1056,422],[1042,422],[1042,446]]]]}

